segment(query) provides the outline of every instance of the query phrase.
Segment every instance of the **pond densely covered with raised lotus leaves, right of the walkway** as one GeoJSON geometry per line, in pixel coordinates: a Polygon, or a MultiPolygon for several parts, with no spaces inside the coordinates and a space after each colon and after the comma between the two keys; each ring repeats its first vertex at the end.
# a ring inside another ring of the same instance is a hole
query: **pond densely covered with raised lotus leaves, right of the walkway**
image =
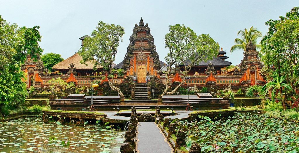
{"type": "Polygon", "coordinates": [[[298,121],[249,113],[214,120],[199,118],[191,123],[173,121],[177,130],[185,132],[187,149],[198,143],[202,152],[299,152],[298,121]]]}

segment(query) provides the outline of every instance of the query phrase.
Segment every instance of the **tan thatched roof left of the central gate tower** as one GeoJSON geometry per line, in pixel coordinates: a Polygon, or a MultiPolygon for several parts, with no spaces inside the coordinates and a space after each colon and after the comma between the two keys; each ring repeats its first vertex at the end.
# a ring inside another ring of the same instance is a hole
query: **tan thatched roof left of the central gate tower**
{"type": "MultiPolygon", "coordinates": [[[[82,60],[82,57],[78,53],[75,53],[71,57],[68,57],[67,59],[57,63],[56,65],[54,65],[52,67],[52,69],[55,69],[55,70],[68,69],[70,67],[71,63],[75,64],[74,67],[76,69],[93,69],[94,65],[92,64],[91,61],[87,62],[88,65],[84,65],[84,64],[80,63],[81,60],[82,60]]],[[[113,63],[113,65],[115,65],[115,64],[113,63]]],[[[99,66],[98,68],[103,68],[103,67],[99,66]]]]}

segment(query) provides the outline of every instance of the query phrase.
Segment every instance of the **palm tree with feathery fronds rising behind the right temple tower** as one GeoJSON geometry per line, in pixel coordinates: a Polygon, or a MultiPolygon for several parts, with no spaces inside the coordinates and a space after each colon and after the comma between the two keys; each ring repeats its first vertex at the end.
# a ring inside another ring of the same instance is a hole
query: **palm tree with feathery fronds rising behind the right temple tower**
{"type": "Polygon", "coordinates": [[[244,31],[240,30],[237,35],[239,36],[240,34],[241,34],[241,39],[240,38],[235,39],[236,45],[231,47],[231,53],[239,49],[245,51],[246,45],[249,43],[249,41],[251,41],[252,44],[255,44],[257,49],[260,49],[261,45],[257,44],[257,39],[262,38],[262,32],[258,31],[257,28],[254,28],[253,26],[251,26],[249,30],[245,28],[244,31]]]}

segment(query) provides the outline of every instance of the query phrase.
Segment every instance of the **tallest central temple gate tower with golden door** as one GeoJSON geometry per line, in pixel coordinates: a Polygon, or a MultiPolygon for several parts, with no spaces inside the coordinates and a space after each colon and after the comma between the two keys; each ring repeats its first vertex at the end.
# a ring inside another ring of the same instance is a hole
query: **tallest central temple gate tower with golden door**
{"type": "Polygon", "coordinates": [[[139,26],[135,24],[122,68],[127,72],[127,76],[135,73],[138,83],[145,82],[147,73],[156,76],[161,68],[154,38],[142,18],[139,26]]]}

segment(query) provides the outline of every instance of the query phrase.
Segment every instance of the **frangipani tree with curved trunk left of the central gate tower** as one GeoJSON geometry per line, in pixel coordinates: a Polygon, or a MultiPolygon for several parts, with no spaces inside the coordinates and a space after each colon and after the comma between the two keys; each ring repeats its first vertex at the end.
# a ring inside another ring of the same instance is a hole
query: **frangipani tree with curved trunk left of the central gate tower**
{"type": "MultiPolygon", "coordinates": [[[[95,30],[91,32],[90,38],[83,40],[83,46],[78,53],[82,56],[83,63],[95,61],[94,68],[103,66],[103,69],[110,74],[112,63],[118,52],[119,42],[123,41],[124,28],[119,25],[106,24],[100,21],[95,30]]],[[[119,88],[115,87],[108,79],[109,86],[112,90],[123,96],[119,88]]]]}

